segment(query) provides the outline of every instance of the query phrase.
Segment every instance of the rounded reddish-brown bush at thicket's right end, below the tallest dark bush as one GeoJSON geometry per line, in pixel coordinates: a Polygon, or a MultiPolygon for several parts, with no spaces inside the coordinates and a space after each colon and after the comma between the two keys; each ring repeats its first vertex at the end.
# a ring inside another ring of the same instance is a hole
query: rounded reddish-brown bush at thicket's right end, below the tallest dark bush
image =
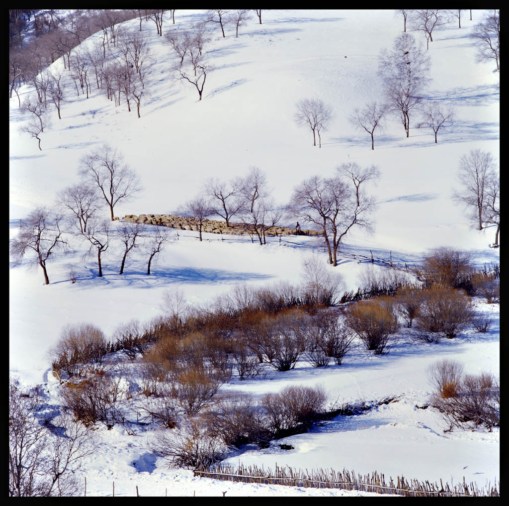
{"type": "Polygon", "coordinates": [[[462,291],[432,286],[426,290],[415,318],[415,336],[428,342],[438,342],[443,336],[453,339],[471,326],[474,314],[470,299],[462,291]]]}

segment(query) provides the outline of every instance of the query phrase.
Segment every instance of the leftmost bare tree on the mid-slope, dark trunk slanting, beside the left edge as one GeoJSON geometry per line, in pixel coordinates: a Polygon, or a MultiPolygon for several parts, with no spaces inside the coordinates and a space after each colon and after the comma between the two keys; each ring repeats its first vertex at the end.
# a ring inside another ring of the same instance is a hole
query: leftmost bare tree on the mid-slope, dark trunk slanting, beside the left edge
{"type": "Polygon", "coordinates": [[[15,261],[20,261],[26,253],[34,252],[29,265],[40,265],[44,274],[44,282],[48,285],[49,278],[46,262],[50,255],[58,251],[66,251],[67,241],[62,228],[64,218],[55,209],[36,207],[20,223],[18,235],[12,239],[10,250],[15,261]]]}

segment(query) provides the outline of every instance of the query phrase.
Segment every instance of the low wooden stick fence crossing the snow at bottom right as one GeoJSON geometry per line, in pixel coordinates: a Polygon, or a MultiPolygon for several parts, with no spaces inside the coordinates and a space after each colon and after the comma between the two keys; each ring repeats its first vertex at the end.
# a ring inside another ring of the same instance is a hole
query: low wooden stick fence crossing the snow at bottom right
{"type": "MultiPolygon", "coordinates": [[[[404,476],[398,476],[394,482],[392,477],[388,484],[385,482],[385,476],[378,472],[371,475],[356,475],[353,471],[343,469],[343,473],[336,472],[333,469],[326,471],[324,469],[307,469],[298,471],[289,466],[277,467],[275,472],[256,465],[244,467],[240,465],[237,469],[230,466],[216,464],[214,470],[196,469],[195,476],[214,478],[215,480],[225,480],[243,483],[260,483],[273,485],[286,485],[292,487],[312,487],[312,488],[335,488],[344,490],[360,490],[364,492],[375,492],[379,494],[398,494],[409,497],[440,497],[440,496],[499,496],[497,485],[487,488],[478,488],[475,483],[467,484],[463,478],[463,484],[450,485],[442,483],[430,483],[429,481],[419,482],[418,480],[406,480],[404,476]]],[[[500,483],[498,483],[500,488],[500,483]]]]}

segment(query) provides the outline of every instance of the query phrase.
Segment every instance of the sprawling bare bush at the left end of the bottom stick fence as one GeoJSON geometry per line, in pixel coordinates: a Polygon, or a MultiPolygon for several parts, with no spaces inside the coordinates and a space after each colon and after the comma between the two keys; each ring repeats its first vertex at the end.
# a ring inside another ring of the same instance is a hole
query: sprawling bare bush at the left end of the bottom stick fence
{"type": "Polygon", "coordinates": [[[224,456],[219,439],[209,436],[203,424],[195,420],[178,435],[159,433],[150,449],[167,459],[171,466],[187,469],[208,468],[224,456]]]}

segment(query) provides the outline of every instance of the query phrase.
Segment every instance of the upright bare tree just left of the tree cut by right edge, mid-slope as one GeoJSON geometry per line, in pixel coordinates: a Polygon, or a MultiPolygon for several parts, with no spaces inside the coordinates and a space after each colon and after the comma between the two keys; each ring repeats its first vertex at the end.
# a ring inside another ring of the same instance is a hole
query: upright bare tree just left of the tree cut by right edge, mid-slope
{"type": "Polygon", "coordinates": [[[468,155],[460,158],[458,181],[460,190],[453,192],[453,198],[467,206],[469,218],[478,230],[483,229],[483,209],[487,205],[485,194],[488,180],[496,174],[493,156],[487,151],[471,149],[468,155]]]}

